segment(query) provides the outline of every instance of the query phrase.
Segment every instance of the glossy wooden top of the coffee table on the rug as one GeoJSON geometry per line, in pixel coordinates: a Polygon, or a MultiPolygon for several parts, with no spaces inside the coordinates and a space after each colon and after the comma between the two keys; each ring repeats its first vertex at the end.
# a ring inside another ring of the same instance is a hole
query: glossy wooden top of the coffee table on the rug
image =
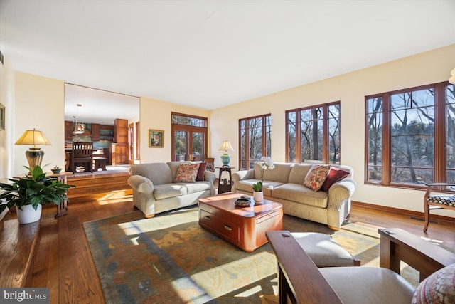
{"type": "Polygon", "coordinates": [[[267,199],[261,201],[261,204],[255,204],[255,201],[252,200],[250,206],[235,206],[235,200],[239,199],[242,195],[243,194],[235,192],[226,192],[215,196],[205,197],[204,199],[199,199],[199,204],[212,206],[216,209],[223,209],[223,211],[243,217],[260,216],[272,210],[282,209],[282,204],[279,204],[276,201],[269,201],[267,199]]]}

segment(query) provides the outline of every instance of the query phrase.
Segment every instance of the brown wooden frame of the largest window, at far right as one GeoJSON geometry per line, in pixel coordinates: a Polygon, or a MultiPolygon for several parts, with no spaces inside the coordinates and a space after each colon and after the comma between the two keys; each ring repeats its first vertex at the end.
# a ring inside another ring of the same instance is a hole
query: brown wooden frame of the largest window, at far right
{"type": "Polygon", "coordinates": [[[419,85],[412,88],[393,90],[390,92],[379,93],[365,96],[365,159],[364,159],[364,184],[380,185],[385,187],[397,187],[404,189],[426,189],[424,184],[398,183],[392,182],[392,109],[390,99],[392,95],[409,93],[418,90],[434,89],[434,166],[433,183],[446,182],[446,87],[449,82],[432,83],[429,85],[419,85]],[[372,98],[382,98],[382,177],[380,182],[369,179],[369,146],[368,146],[368,100],[372,98]]]}

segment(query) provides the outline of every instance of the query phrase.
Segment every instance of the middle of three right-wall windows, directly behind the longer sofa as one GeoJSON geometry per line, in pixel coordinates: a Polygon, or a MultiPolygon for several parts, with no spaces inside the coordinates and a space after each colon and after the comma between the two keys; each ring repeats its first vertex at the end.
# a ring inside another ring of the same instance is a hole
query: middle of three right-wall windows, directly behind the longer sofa
{"type": "Polygon", "coordinates": [[[340,102],[286,111],[286,161],[340,163],[340,102]]]}

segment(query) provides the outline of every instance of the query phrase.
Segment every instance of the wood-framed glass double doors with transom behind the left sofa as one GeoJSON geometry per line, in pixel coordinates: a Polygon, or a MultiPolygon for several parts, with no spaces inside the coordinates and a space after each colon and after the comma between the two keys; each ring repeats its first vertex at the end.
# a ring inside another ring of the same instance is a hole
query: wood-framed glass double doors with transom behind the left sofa
{"type": "Polygon", "coordinates": [[[207,157],[207,118],[172,115],[172,159],[201,161],[207,157]]]}

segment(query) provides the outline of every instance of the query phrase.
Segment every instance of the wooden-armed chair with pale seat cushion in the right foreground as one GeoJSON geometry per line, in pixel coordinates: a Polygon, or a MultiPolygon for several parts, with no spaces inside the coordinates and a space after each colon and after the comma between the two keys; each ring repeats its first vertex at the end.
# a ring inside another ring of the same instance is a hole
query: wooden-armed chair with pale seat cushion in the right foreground
{"type": "Polygon", "coordinates": [[[455,263],[455,253],[407,231],[378,232],[380,267],[317,268],[289,231],[266,231],[277,256],[279,303],[411,303],[415,288],[400,276],[400,261],[419,271],[420,281],[455,263]]]}

